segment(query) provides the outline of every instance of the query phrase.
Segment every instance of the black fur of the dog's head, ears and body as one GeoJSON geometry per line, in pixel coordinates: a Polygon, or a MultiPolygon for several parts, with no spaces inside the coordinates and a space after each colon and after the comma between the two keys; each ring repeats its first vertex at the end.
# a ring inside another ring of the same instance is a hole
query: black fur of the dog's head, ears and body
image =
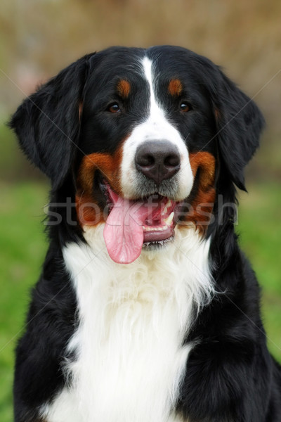
{"type": "MultiPolygon", "coordinates": [[[[137,64],[145,54],[154,60],[159,97],[169,119],[184,138],[189,134],[189,151],[209,151],[217,158],[215,219],[206,236],[211,236],[218,294],[202,308],[185,339],[200,343],[188,358],[177,411],[190,422],[281,421],[281,371],[266,347],[259,285],[237,244],[233,207],[218,207],[218,195],[223,203],[235,203],[235,185],[245,189],[244,166],[259,145],[263,127],[254,102],[220,68],[191,51],[115,47],[81,58],[39,88],[18,108],[11,127],[27,157],[50,177],[51,203],[74,200],[83,155],[114,152],[148,113],[147,87],[137,64]],[[132,93],[125,101],[117,98],[115,84],[118,77],[128,75],[132,93]],[[184,100],[192,108],[188,119],[178,117],[175,103],[164,95],[171,77],[185,83],[184,100]],[[117,100],[122,103],[122,117],[105,113],[117,100]],[[80,120],[79,103],[84,105],[80,120]]],[[[39,407],[51,402],[65,385],[65,347],[77,324],[75,294],[61,250],[67,241],[83,241],[81,229],[66,222],[65,210],[51,211],[63,219],[50,226],[50,247],[32,295],[27,330],[17,348],[16,422],[39,421],[39,407]]],[[[72,219],[76,221],[75,210],[72,219]]]]}

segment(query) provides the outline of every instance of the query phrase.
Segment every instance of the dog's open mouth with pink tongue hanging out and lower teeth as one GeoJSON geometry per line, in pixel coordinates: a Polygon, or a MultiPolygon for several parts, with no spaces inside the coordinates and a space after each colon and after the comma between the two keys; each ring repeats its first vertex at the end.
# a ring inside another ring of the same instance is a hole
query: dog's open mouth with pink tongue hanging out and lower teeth
{"type": "Polygon", "coordinates": [[[103,236],[112,260],[129,264],[143,247],[162,245],[174,238],[176,201],[159,193],[139,200],[124,199],[107,182],[100,188],[107,200],[103,236]]]}

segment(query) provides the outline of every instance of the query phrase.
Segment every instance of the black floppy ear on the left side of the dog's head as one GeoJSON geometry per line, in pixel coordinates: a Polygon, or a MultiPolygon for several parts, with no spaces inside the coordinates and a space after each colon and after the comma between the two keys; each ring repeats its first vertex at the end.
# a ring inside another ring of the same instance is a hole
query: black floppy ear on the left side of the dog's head
{"type": "Polygon", "coordinates": [[[84,56],[25,99],[10,127],[27,157],[60,186],[69,172],[79,141],[79,105],[89,68],[84,56]]]}

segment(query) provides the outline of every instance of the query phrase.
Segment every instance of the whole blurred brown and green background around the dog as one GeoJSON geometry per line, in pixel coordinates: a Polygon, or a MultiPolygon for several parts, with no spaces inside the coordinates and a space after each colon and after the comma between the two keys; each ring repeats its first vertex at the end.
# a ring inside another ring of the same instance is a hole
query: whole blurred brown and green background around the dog
{"type": "Polygon", "coordinates": [[[1,0],[0,420],[12,421],[13,350],[46,252],[48,181],[5,122],[37,85],[110,45],[176,44],[222,65],[263,111],[267,128],[247,169],[237,232],[263,289],[270,351],[281,362],[279,0],[1,0]]]}

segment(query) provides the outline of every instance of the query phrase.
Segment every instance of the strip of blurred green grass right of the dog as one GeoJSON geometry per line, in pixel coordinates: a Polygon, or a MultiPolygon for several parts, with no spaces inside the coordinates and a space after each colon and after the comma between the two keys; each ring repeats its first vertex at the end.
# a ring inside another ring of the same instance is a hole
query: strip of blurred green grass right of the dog
{"type": "Polygon", "coordinates": [[[240,198],[237,232],[262,287],[270,352],[281,362],[280,184],[248,186],[240,198]]]}

